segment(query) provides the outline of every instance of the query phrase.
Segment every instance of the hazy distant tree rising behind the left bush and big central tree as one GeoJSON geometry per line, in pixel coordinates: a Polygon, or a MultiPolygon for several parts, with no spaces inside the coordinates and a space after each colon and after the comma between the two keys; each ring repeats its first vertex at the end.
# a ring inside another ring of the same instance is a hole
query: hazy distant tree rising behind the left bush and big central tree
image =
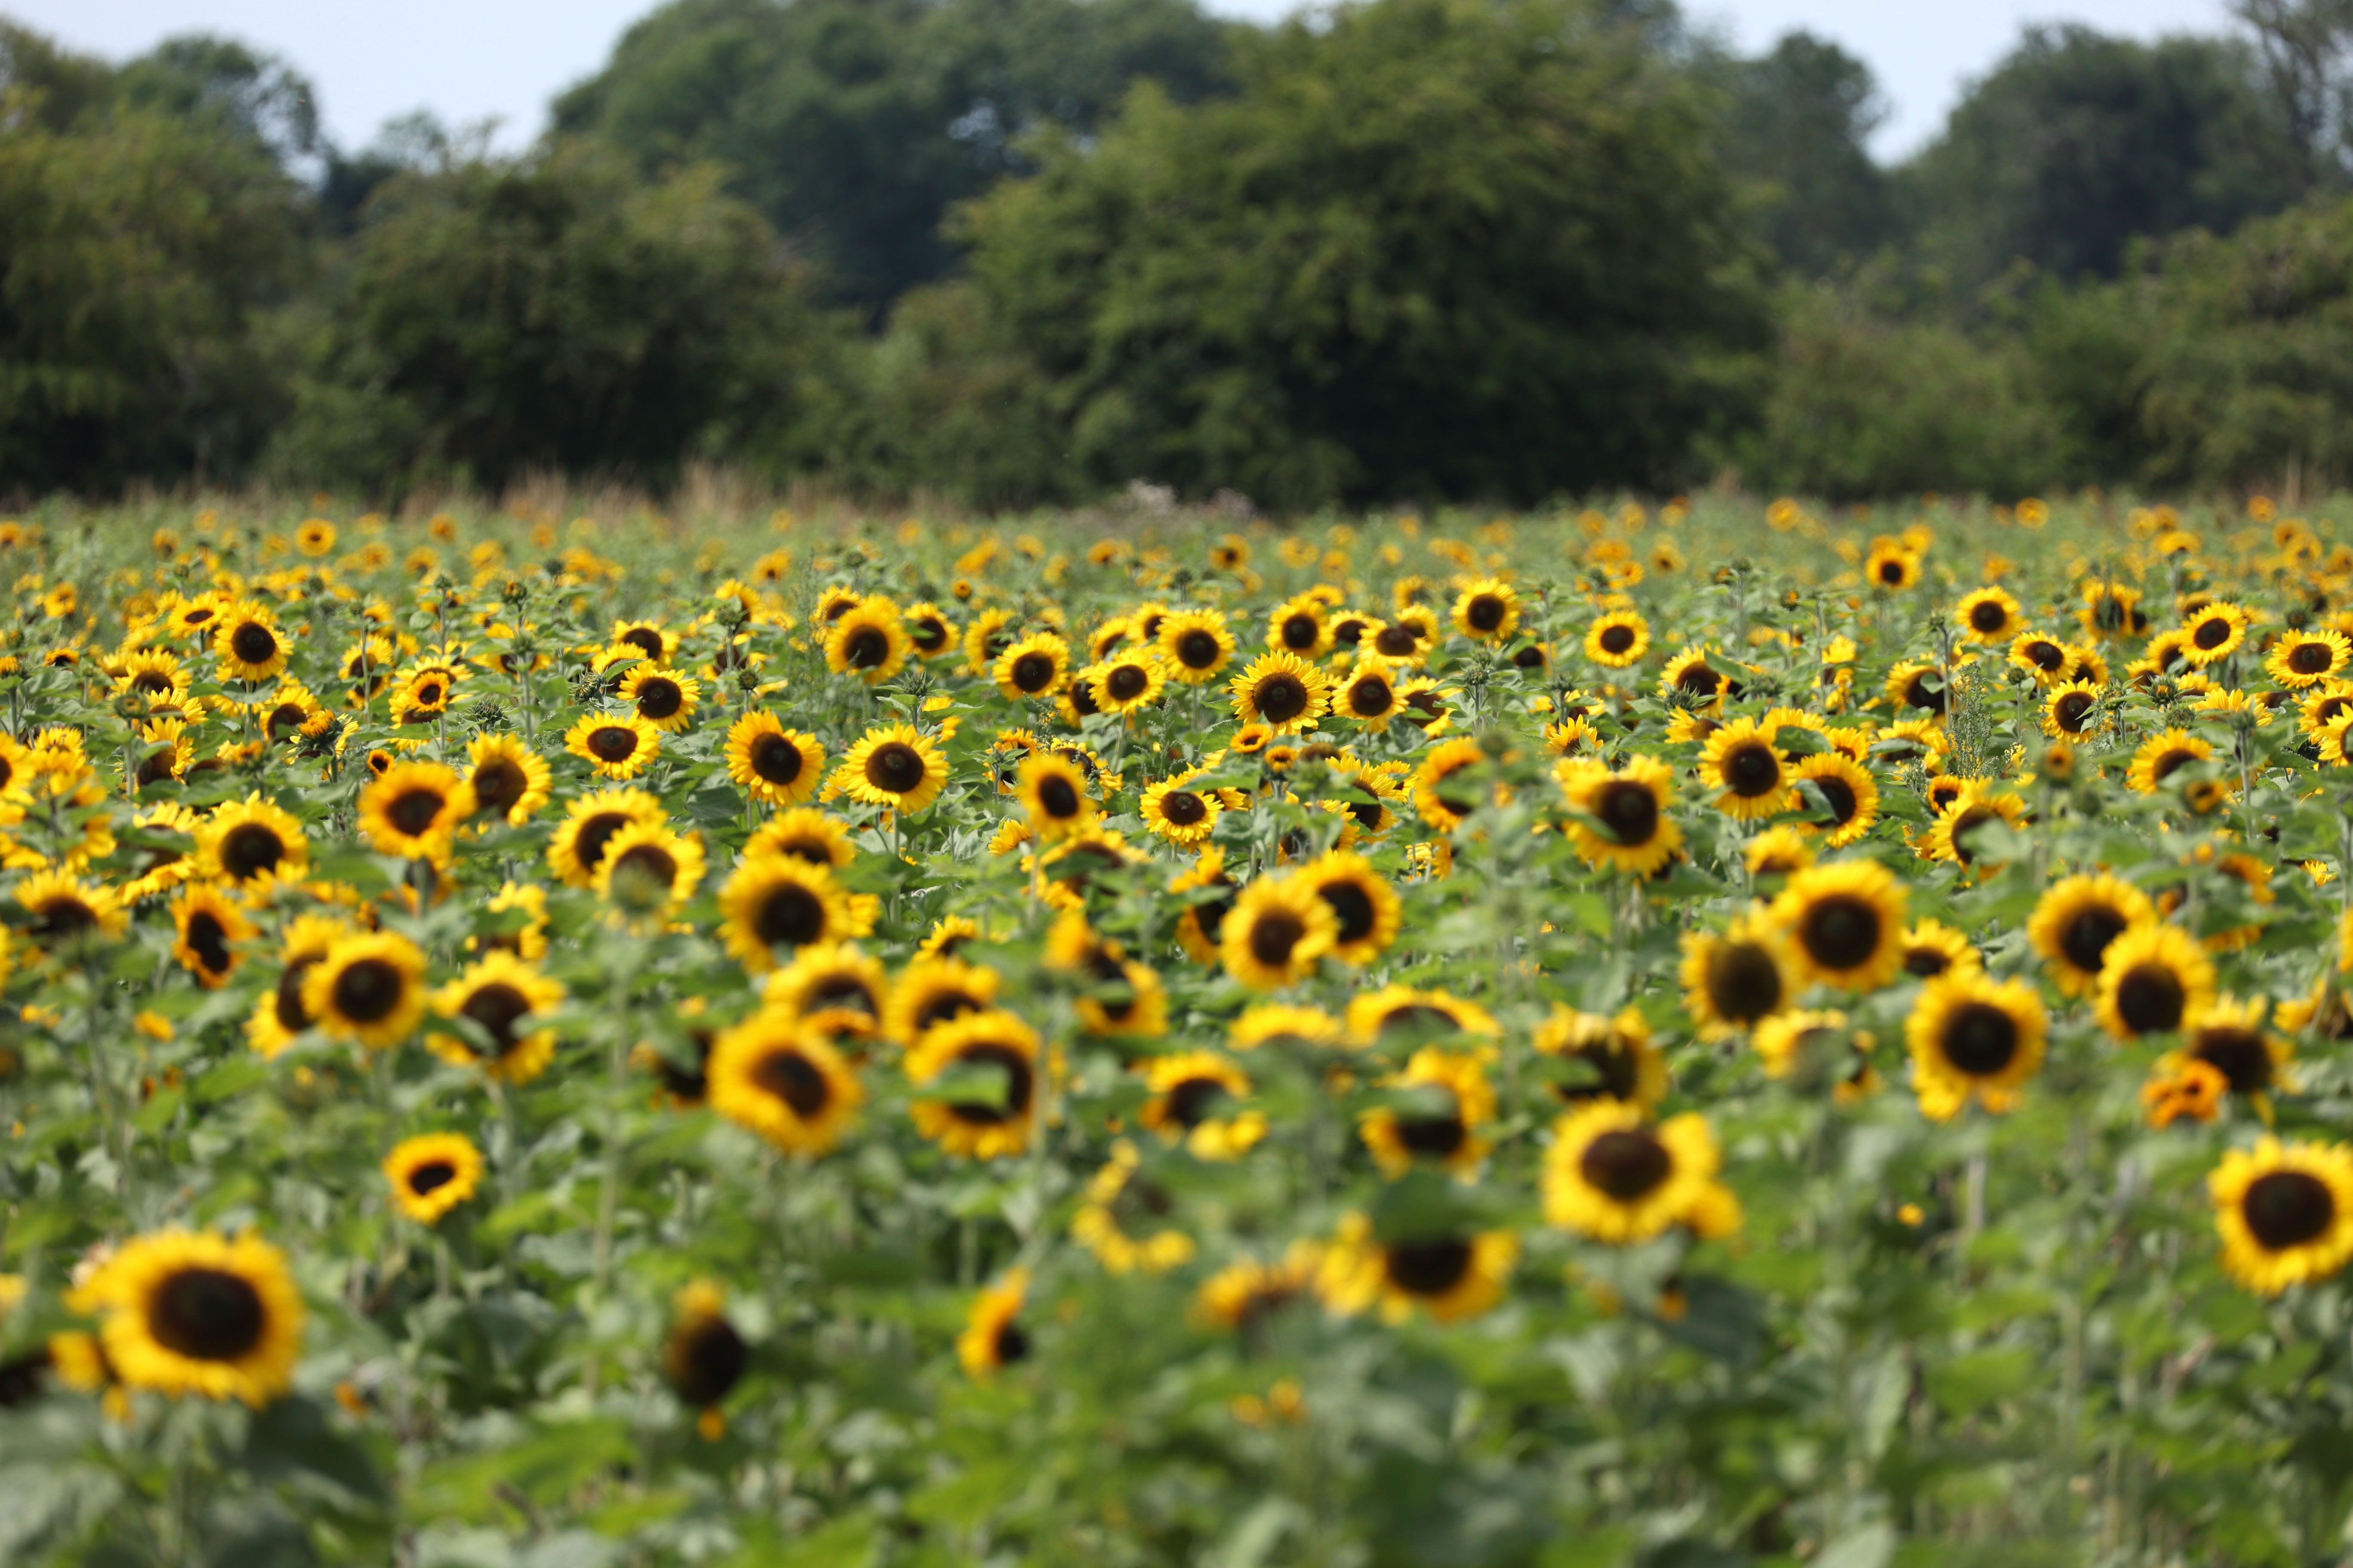
{"type": "Polygon", "coordinates": [[[1038,125],[1087,132],[1139,75],[1195,99],[1224,28],[1191,0],[678,0],[555,103],[645,169],[713,160],[835,296],[944,275],[951,202],[1038,125]]]}

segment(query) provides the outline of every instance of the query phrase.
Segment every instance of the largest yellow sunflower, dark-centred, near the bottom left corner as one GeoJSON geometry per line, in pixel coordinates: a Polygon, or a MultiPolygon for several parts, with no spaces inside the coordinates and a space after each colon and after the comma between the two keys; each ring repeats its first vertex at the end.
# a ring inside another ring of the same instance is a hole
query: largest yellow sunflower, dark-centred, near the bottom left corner
{"type": "Polygon", "coordinates": [[[304,1305],[285,1253],[245,1232],[167,1229],[127,1241],[85,1286],[104,1307],[115,1375],[174,1399],[240,1399],[256,1410],[294,1387],[304,1305]]]}

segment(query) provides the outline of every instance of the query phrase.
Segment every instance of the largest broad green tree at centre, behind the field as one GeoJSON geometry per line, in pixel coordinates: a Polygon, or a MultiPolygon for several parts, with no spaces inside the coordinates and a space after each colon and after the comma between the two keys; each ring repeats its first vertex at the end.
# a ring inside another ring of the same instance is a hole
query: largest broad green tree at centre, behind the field
{"type": "Polygon", "coordinates": [[[1096,482],[1666,484],[1739,416],[1753,252],[1704,94],[1579,0],[1377,0],[1129,94],[962,212],[1096,482]]]}

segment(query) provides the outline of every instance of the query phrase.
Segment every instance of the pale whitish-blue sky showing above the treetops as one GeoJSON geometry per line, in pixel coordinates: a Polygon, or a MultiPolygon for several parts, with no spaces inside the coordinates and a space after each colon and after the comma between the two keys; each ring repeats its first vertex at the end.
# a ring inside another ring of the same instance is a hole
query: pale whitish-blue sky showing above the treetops
{"type": "MultiPolygon", "coordinates": [[[[1207,0],[1231,16],[1273,19],[1289,0],[1207,0]]],[[[1944,122],[1962,82],[1984,73],[2028,21],[2087,21],[2155,38],[2219,31],[2224,0],[1685,0],[1694,21],[1746,52],[1809,28],[1880,78],[1889,115],[1875,150],[1897,158],[1944,122]]],[[[172,33],[242,38],[292,59],[322,99],[327,129],[365,146],[393,115],[431,108],[449,122],[496,115],[520,146],[548,99],[602,63],[649,0],[0,0],[9,14],[78,49],[122,59],[172,33]]]]}

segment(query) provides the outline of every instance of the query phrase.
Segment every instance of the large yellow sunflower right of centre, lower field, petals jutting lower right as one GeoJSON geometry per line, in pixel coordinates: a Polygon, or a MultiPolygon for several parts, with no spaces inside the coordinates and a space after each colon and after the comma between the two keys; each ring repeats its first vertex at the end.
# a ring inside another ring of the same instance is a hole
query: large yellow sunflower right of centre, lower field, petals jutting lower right
{"type": "Polygon", "coordinates": [[[1633,1246],[1685,1227],[1729,1237],[1741,1201],[1715,1180],[1715,1133],[1699,1114],[1645,1126],[1635,1105],[1602,1100],[1553,1124],[1544,1152],[1544,1218],[1593,1241],[1633,1246]]]}

